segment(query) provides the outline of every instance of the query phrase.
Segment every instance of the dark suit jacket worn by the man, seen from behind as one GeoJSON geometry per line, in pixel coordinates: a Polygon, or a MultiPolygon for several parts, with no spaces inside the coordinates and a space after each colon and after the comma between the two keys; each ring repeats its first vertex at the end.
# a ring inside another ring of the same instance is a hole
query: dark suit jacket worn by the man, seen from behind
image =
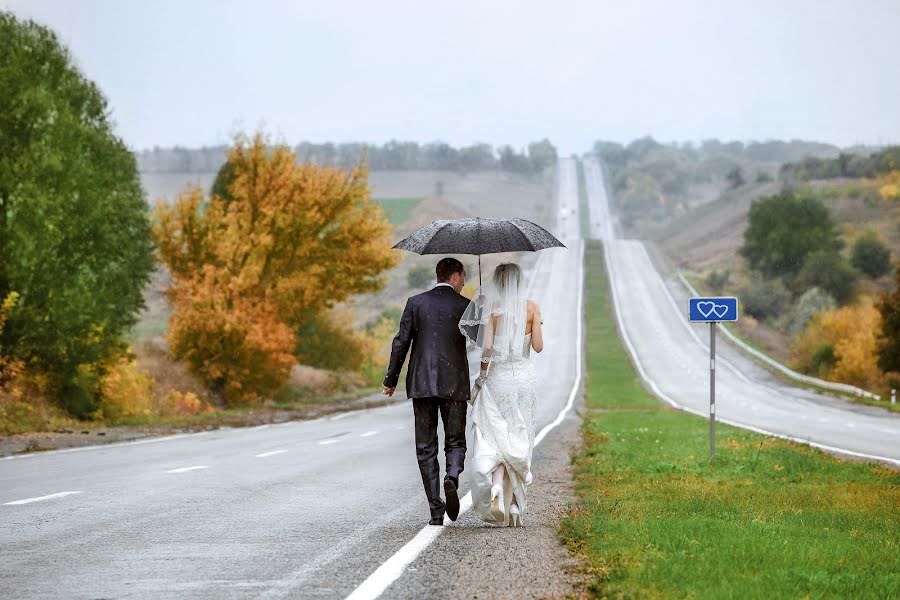
{"type": "Polygon", "coordinates": [[[446,285],[439,285],[406,301],[400,330],[391,347],[391,362],[384,378],[395,387],[412,345],[406,372],[410,398],[469,399],[469,361],[466,338],[459,320],[469,301],[446,285]]]}

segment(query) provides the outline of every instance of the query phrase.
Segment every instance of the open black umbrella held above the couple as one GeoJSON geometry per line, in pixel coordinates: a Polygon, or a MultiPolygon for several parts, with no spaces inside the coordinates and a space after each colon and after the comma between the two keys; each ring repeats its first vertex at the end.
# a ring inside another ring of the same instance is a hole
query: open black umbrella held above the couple
{"type": "Polygon", "coordinates": [[[481,255],[534,252],[565,248],[549,231],[525,219],[442,219],[403,238],[394,248],[417,254],[477,254],[478,285],[481,255]]]}

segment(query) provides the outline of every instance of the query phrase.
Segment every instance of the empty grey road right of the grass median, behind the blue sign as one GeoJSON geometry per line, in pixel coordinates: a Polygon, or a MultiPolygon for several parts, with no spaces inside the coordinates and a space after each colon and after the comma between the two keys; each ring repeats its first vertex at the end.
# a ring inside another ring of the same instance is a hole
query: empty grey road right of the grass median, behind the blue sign
{"type": "MultiPolygon", "coordinates": [[[[620,328],[661,395],[708,415],[709,325],[687,321],[687,290],[660,275],[643,243],[615,234],[596,162],[585,161],[585,175],[591,236],[604,241],[620,328]]],[[[718,419],[900,464],[900,415],[786,383],[721,334],[716,357],[718,419]]]]}

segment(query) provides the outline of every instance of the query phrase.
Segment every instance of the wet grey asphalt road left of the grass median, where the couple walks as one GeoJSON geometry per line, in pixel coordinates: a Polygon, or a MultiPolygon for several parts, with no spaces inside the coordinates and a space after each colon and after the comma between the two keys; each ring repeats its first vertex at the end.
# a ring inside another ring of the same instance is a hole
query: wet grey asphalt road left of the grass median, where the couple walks
{"type": "MultiPolygon", "coordinates": [[[[567,160],[560,207],[570,248],[529,268],[545,319],[539,427],[575,378],[582,248],[567,160]]],[[[428,516],[407,402],[17,456],[0,460],[0,598],[343,598],[428,516]]],[[[390,597],[421,597],[403,582],[390,597]]]]}

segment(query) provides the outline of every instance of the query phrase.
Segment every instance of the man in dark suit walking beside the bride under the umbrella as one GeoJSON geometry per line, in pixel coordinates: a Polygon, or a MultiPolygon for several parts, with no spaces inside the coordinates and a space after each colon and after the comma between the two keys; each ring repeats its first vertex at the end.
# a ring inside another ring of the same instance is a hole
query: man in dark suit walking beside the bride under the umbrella
{"type": "Polygon", "coordinates": [[[459,515],[459,474],[466,458],[466,407],[469,399],[469,361],[466,338],[459,319],[469,301],[460,295],[466,271],[455,258],[442,259],[435,268],[437,285],[406,301],[400,330],[391,347],[391,362],[384,378],[384,393],[393,396],[400,369],[412,345],[406,373],[406,395],[412,398],[416,429],[416,458],[431,508],[431,525],[444,524],[444,511],[455,521],[459,515]],[[444,424],[444,477],[446,504],[441,500],[437,461],[437,420],[444,424]]]}

